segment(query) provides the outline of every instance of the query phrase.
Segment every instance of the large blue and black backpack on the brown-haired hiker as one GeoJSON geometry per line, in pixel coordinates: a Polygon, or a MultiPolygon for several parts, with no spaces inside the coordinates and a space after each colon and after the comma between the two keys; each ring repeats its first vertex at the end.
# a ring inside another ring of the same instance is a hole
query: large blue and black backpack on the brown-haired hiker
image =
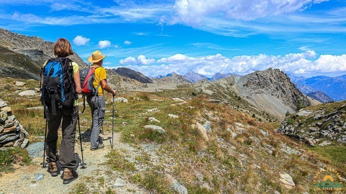
{"type": "Polygon", "coordinates": [[[72,60],[66,57],[49,59],[41,70],[43,79],[41,101],[46,118],[56,115],[56,109],[72,107],[78,95],[73,80],[72,60]]]}

